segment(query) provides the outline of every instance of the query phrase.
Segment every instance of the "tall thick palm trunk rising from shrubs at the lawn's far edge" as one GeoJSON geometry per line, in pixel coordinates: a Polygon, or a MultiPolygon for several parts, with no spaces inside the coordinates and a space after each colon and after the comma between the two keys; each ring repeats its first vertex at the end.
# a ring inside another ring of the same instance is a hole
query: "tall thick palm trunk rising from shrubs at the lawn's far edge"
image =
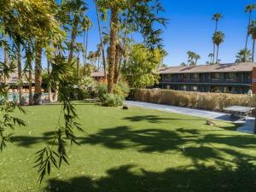
{"type": "Polygon", "coordinates": [[[115,65],[115,46],[118,33],[118,9],[113,6],[111,9],[110,21],[110,45],[109,45],[109,61],[108,61],[108,93],[113,93],[113,71],[115,65]]]}

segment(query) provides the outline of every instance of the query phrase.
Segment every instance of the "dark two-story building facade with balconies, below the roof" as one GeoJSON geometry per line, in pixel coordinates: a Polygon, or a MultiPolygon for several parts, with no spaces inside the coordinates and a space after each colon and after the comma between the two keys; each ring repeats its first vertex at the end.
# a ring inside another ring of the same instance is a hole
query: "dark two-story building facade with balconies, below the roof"
{"type": "Polygon", "coordinates": [[[225,92],[242,94],[251,90],[256,93],[256,67],[252,73],[180,73],[160,74],[162,89],[200,92],[225,92]]]}

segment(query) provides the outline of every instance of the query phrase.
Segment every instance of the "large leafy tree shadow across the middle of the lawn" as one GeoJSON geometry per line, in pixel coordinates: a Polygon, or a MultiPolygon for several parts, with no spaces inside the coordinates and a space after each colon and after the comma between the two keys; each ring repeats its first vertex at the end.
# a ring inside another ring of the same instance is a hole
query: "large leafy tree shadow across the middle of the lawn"
{"type": "Polygon", "coordinates": [[[128,126],[103,129],[88,137],[80,137],[81,144],[101,144],[107,148],[134,148],[139,152],[166,152],[183,144],[183,137],[175,131],[162,129],[132,130],[128,126]]]}

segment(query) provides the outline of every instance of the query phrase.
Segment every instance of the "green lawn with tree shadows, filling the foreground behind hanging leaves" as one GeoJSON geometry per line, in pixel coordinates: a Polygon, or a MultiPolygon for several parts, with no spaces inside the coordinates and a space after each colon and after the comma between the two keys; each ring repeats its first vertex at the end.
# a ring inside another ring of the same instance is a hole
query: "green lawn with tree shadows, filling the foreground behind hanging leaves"
{"type": "Polygon", "coordinates": [[[176,113],[77,103],[80,146],[39,186],[34,153],[53,137],[60,106],[27,107],[28,124],[0,154],[0,191],[255,192],[256,137],[176,113]]]}

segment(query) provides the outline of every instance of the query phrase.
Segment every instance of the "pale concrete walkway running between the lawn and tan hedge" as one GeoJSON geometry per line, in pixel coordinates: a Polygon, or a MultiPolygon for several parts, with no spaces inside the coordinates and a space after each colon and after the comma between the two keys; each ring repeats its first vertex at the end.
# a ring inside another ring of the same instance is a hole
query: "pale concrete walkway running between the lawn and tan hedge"
{"type": "Polygon", "coordinates": [[[201,109],[181,108],[181,107],[175,107],[170,105],[160,105],[160,104],[154,104],[154,103],[148,103],[148,102],[126,101],[125,103],[128,106],[134,106],[138,108],[150,108],[150,109],[155,109],[160,111],[166,111],[169,113],[182,113],[182,114],[187,114],[187,115],[206,118],[206,119],[229,121],[234,124],[241,124],[241,126],[237,129],[237,131],[253,133],[254,118],[252,117],[247,118],[245,121],[237,121],[236,119],[230,118],[230,115],[227,115],[225,113],[212,112],[212,111],[201,110],[201,109]]]}

